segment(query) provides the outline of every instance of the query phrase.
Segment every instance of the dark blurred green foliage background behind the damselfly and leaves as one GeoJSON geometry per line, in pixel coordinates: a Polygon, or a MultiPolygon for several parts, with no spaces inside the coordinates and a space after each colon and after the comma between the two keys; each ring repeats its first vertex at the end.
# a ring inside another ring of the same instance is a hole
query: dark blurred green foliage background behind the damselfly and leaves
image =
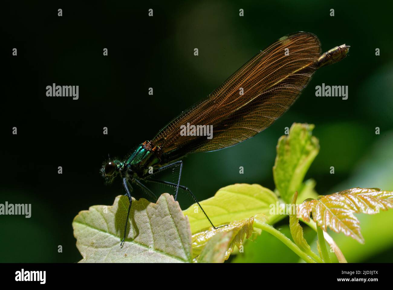
{"type": "MultiPolygon", "coordinates": [[[[73,217],[94,204],[112,204],[123,194],[120,180],[105,186],[99,175],[108,153],[122,158],[259,50],[296,31],[316,34],[323,51],[351,45],[349,56],[317,71],[294,106],[264,132],[228,149],[185,158],[182,184],[200,200],[239,182],[273,190],[275,145],[285,127],[299,122],[316,125],[321,149],[306,179],[316,180],[319,194],[356,186],[393,190],[391,4],[120,3],[4,4],[0,203],[31,203],[32,217],[0,216],[0,262],[80,260],[73,217]],[[62,17],[57,16],[59,8],[62,17]],[[153,17],[147,16],[150,8],[153,17]],[[239,9],[244,9],[244,17],[239,17],[239,9]],[[17,57],[11,55],[14,47],[17,57]],[[103,48],[108,48],[108,56],[103,56],[103,48]],[[199,56],[193,55],[194,48],[199,56]],[[375,56],[376,48],[380,56],[375,56]],[[46,97],[46,86],[52,83],[79,85],[79,100],[46,97]],[[348,86],[349,98],[315,97],[315,87],[322,83],[348,86]],[[380,127],[380,135],[375,127],[380,127]],[[239,166],[244,174],[239,174],[239,166]]],[[[179,202],[183,209],[192,203],[186,197],[179,202]]],[[[359,219],[364,245],[333,235],[347,260],[391,262],[393,211],[359,219]]],[[[284,219],[277,227],[289,234],[287,224],[284,219]]],[[[311,243],[315,234],[309,230],[311,243]]],[[[267,233],[231,258],[298,260],[267,233]]]]}

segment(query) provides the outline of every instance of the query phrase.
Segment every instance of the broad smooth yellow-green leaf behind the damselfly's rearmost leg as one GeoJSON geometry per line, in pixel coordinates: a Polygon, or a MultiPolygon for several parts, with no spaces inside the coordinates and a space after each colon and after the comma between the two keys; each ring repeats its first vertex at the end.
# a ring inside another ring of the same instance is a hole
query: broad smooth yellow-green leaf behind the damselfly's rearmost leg
{"type": "MultiPolygon", "coordinates": [[[[231,221],[249,219],[256,214],[265,214],[267,222],[278,219],[278,215],[270,215],[270,204],[278,202],[273,191],[259,184],[233,184],[221,188],[217,193],[200,205],[205,210],[213,224],[217,227],[231,221]]],[[[195,234],[211,227],[208,219],[197,204],[183,211],[188,216],[191,233],[195,234]]]]}

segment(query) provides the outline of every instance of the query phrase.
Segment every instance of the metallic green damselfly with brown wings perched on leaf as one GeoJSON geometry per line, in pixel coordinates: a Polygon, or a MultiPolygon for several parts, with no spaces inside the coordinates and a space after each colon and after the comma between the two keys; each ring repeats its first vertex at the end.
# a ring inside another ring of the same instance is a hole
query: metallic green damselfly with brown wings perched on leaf
{"type": "Polygon", "coordinates": [[[268,128],[298,99],[316,69],[340,61],[348,50],[349,46],[344,44],[321,54],[318,37],[307,32],[281,37],[258,52],[205,100],[174,118],[152,140],[138,145],[123,161],[105,162],[102,175],[107,183],[119,175],[130,202],[121,245],[126,238],[132,204],[131,182],[153,197],[154,193],[141,180],[173,186],[175,200],[180,188],[191,194],[200,206],[191,190],[180,185],[181,159],[189,153],[233,146],[268,128]],[[153,178],[174,166],[180,167],[176,182],[153,178]]]}

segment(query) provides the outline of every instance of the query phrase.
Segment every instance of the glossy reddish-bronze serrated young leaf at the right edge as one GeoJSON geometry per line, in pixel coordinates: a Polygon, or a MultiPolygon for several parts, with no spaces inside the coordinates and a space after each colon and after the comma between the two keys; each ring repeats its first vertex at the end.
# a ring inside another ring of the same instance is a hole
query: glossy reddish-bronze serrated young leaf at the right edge
{"type": "Polygon", "coordinates": [[[312,219],[323,231],[326,232],[329,227],[334,232],[343,232],[363,244],[360,223],[354,213],[376,214],[379,210],[389,208],[393,208],[393,191],[351,188],[302,203],[299,215],[309,221],[312,213],[312,219]]]}

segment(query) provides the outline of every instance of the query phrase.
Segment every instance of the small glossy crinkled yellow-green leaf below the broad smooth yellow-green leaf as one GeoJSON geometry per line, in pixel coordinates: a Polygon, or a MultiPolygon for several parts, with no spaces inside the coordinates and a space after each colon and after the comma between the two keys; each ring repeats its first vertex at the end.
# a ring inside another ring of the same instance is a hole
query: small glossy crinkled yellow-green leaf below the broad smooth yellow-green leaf
{"type": "MultiPolygon", "coordinates": [[[[230,254],[235,249],[235,246],[239,248],[245,238],[251,238],[253,234],[253,223],[254,218],[244,219],[241,221],[233,221],[226,227],[220,227],[218,229],[210,228],[208,231],[198,232],[192,236],[192,245],[193,245],[193,257],[202,255],[205,247],[209,244],[209,242],[217,236],[217,234],[222,234],[225,232],[231,232],[230,240],[228,246],[225,249],[224,260],[227,260],[230,254]],[[212,238],[213,237],[213,238],[212,238]]],[[[258,231],[259,234],[261,231],[258,231]]],[[[222,260],[222,262],[224,262],[222,260]]]]}

